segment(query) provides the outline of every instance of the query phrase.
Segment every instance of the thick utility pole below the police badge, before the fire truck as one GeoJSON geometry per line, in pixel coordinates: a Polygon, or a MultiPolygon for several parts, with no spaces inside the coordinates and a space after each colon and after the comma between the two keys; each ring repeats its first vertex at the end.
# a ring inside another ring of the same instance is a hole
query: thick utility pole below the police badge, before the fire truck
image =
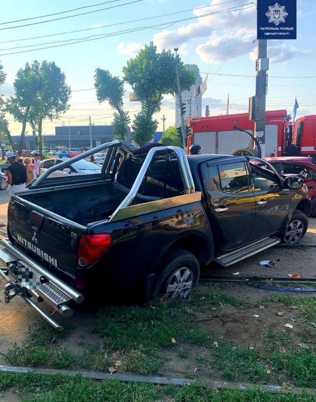
{"type": "Polygon", "coordinates": [[[258,40],[258,60],[256,61],[256,107],[255,107],[255,137],[259,139],[262,157],[265,157],[266,144],[266,94],[267,71],[269,59],[267,58],[267,39],[258,40]]]}

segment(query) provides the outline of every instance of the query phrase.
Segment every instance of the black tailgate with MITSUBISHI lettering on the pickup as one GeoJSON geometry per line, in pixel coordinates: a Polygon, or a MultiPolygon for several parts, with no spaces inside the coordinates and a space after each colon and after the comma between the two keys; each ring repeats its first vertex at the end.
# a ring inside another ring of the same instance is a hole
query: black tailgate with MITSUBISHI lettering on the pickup
{"type": "MultiPolygon", "coordinates": [[[[45,194],[43,194],[45,196],[45,194]]],[[[13,195],[8,208],[8,234],[43,266],[75,276],[77,248],[86,227],[13,195]]],[[[11,239],[12,240],[12,239],[11,239]]]]}

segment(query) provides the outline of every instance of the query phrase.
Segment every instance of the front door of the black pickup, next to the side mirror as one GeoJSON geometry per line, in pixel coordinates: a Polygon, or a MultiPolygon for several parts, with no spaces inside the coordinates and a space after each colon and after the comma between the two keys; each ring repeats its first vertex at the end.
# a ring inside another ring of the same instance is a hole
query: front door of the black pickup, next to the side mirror
{"type": "Polygon", "coordinates": [[[290,191],[283,187],[281,179],[268,169],[250,163],[253,191],[256,199],[256,218],[253,239],[280,232],[286,223],[290,191]]]}

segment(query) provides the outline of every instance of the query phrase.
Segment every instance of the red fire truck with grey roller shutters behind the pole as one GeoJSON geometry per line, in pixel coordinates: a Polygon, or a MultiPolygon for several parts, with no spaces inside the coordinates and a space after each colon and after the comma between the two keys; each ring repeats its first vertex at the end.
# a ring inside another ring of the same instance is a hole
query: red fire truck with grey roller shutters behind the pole
{"type": "MultiPolygon", "coordinates": [[[[275,156],[312,156],[316,159],[316,115],[297,119],[292,130],[291,117],[286,110],[266,112],[266,141],[262,157],[271,153],[275,156]]],[[[238,149],[252,148],[247,133],[236,131],[235,126],[251,134],[255,122],[248,119],[248,113],[235,115],[195,117],[189,122],[191,144],[200,144],[202,153],[232,154],[238,149]]]]}

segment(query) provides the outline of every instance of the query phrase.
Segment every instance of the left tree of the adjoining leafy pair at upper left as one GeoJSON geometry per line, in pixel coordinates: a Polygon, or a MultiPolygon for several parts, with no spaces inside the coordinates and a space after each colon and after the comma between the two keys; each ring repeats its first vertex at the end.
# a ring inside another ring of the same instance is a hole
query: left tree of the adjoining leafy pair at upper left
{"type": "Polygon", "coordinates": [[[31,66],[29,63],[26,63],[24,68],[18,70],[13,83],[15,95],[10,96],[7,102],[7,111],[13,115],[14,120],[22,123],[18,153],[21,153],[24,148],[26,124],[29,121],[31,107],[37,101],[38,91],[41,85],[39,69],[39,63],[34,61],[31,66]]]}

